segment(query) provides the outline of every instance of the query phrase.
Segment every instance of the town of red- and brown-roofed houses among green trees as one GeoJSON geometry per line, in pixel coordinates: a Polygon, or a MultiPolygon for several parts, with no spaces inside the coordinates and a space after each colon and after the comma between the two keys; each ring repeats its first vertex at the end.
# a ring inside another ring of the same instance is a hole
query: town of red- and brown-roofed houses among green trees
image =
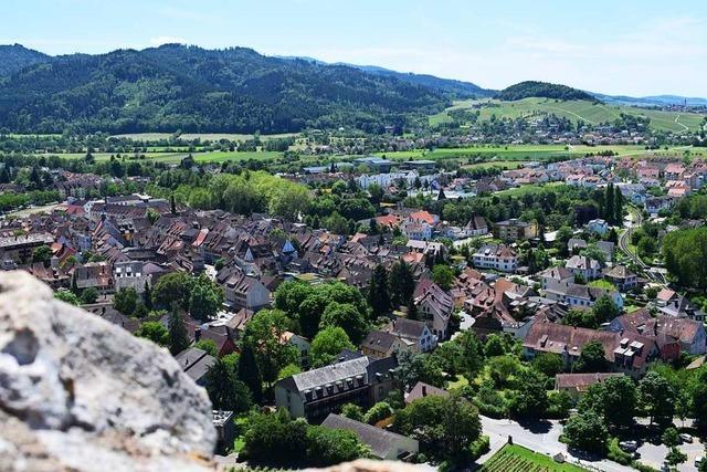
{"type": "Polygon", "coordinates": [[[6,195],[60,202],[3,217],[1,268],[168,348],[226,464],[703,461],[707,161],[689,150],[487,174],[83,161],[4,160],[6,195]]]}

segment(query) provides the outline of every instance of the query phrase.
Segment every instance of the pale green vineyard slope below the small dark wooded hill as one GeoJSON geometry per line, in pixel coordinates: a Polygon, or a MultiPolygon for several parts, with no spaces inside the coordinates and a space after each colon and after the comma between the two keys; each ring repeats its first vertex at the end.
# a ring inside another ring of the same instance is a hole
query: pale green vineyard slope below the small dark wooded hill
{"type": "Polygon", "coordinates": [[[577,123],[579,119],[597,125],[613,122],[621,113],[651,118],[651,126],[665,132],[697,132],[703,123],[703,116],[696,113],[664,112],[659,109],[637,108],[633,106],[605,105],[587,101],[558,102],[548,98],[524,98],[517,102],[500,102],[497,99],[462,101],[455,103],[444,112],[430,117],[430,125],[450,123],[449,112],[452,109],[472,108],[479,106],[479,119],[488,120],[496,117],[519,118],[534,115],[555,114],[577,123]]]}

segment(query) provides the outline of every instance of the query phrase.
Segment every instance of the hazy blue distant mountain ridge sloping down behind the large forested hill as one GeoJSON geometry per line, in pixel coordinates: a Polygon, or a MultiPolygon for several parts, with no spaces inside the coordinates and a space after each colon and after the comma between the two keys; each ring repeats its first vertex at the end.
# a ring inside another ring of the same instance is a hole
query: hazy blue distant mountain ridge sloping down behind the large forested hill
{"type": "Polygon", "coordinates": [[[381,75],[384,77],[398,78],[402,82],[408,82],[413,85],[421,85],[423,87],[432,88],[435,92],[444,94],[455,95],[457,98],[474,98],[474,97],[490,97],[496,94],[496,91],[483,88],[471,82],[457,81],[454,78],[441,78],[430,74],[414,74],[412,72],[398,72],[386,67],[379,67],[378,65],[358,65],[347,62],[327,63],[314,57],[306,56],[277,56],[286,60],[302,60],[308,61],[319,65],[345,65],[348,67],[359,69],[369,74],[381,75]]]}

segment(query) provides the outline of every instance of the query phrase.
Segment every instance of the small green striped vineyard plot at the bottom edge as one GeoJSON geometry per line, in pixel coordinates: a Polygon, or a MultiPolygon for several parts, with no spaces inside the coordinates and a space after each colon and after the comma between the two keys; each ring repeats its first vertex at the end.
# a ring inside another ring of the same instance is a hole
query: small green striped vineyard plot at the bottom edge
{"type": "Polygon", "coordinates": [[[506,444],[481,469],[482,472],[585,472],[584,469],[558,463],[547,455],[538,454],[516,444],[506,444]]]}

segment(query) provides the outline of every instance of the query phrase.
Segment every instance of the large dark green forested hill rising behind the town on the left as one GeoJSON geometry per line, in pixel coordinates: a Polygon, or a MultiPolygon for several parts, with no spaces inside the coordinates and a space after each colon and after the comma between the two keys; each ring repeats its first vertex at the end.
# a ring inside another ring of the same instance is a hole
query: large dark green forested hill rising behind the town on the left
{"type": "MultiPolygon", "coordinates": [[[[2,63],[0,56],[0,63],[2,63]]],[[[441,92],[342,65],[177,44],[66,55],[0,78],[0,128],[18,133],[376,132],[449,105],[441,92]]]]}

